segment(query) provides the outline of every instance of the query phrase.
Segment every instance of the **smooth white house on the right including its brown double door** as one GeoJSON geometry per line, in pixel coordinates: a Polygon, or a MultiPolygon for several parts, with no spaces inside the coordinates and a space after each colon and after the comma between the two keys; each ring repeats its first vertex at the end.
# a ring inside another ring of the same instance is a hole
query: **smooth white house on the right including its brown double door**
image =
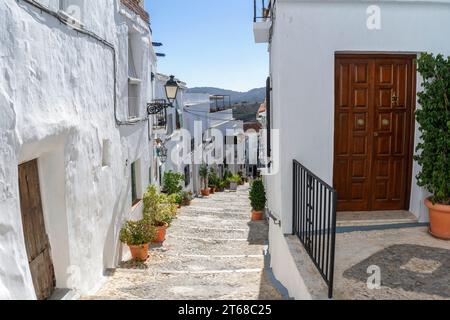
{"type": "Polygon", "coordinates": [[[336,189],[338,211],[405,210],[428,219],[412,159],[415,59],[450,55],[450,1],[272,0],[258,15],[255,41],[270,53],[266,119],[279,130],[265,146],[271,264],[291,296],[307,299],[285,236],[299,223],[294,160],[336,189]]]}

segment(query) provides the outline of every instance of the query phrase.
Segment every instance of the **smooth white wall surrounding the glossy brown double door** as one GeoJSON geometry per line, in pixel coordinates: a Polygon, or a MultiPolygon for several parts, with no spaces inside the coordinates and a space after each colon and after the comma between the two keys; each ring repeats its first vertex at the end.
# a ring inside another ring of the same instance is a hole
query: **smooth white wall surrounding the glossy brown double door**
{"type": "MultiPolygon", "coordinates": [[[[450,5],[434,1],[376,4],[381,8],[381,30],[366,27],[366,2],[277,1],[270,53],[281,171],[269,178],[269,188],[281,190],[276,193],[279,199],[271,202],[272,209],[283,216],[284,232],[291,228],[292,159],[333,182],[335,53],[450,54],[450,44],[444,41],[450,28],[450,5]]],[[[417,136],[416,132],[416,142],[417,136]]],[[[417,170],[415,165],[413,176],[417,170]]],[[[413,181],[411,211],[422,221],[427,219],[425,196],[413,181]]]]}

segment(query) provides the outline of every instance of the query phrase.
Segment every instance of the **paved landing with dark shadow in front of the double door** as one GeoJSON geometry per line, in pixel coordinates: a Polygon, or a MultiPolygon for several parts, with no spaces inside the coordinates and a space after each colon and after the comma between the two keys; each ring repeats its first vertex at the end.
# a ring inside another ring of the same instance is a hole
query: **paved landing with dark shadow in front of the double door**
{"type": "Polygon", "coordinates": [[[450,242],[427,228],[339,234],[335,280],[336,299],[450,299],[450,242]],[[367,286],[373,270],[376,289],[367,286]]]}

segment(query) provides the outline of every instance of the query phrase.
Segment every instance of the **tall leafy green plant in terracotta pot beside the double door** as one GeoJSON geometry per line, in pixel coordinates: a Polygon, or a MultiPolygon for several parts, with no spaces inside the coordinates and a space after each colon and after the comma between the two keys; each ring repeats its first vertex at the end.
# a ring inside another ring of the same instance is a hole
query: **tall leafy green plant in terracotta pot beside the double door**
{"type": "Polygon", "coordinates": [[[421,167],[417,182],[432,194],[425,199],[430,233],[450,240],[450,57],[423,54],[417,70],[423,78],[416,112],[422,140],[414,157],[421,167]]]}

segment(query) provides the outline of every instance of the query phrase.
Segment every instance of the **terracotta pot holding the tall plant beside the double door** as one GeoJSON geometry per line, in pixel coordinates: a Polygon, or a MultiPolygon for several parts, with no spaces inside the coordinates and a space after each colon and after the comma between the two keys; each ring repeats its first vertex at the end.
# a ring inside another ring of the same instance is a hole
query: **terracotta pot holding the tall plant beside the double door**
{"type": "Polygon", "coordinates": [[[430,233],[439,239],[450,240],[450,205],[433,204],[425,200],[430,212],[430,233]]]}

